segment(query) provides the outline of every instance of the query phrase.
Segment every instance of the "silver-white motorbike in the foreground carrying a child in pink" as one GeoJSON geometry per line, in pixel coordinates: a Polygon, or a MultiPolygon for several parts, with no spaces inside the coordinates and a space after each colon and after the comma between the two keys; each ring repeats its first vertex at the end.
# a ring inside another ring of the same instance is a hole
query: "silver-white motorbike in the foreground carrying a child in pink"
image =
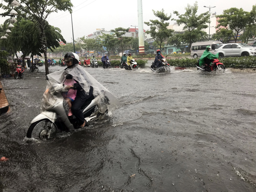
{"type": "MultiPolygon", "coordinates": [[[[75,89],[75,87],[72,87],[72,89],[75,89]]],[[[86,122],[98,121],[108,114],[108,109],[103,113],[100,112],[100,99],[104,97],[107,100],[106,96],[103,96],[104,93],[105,91],[102,92],[102,95],[94,97],[93,87],[90,86],[89,98],[81,107],[86,122]]],[[[43,96],[48,98],[47,105],[43,108],[41,114],[31,121],[27,131],[27,138],[47,140],[54,138],[61,131],[72,131],[78,128],[75,116],[68,116],[69,108],[67,107],[67,102],[56,88],[47,89],[43,96]]]]}

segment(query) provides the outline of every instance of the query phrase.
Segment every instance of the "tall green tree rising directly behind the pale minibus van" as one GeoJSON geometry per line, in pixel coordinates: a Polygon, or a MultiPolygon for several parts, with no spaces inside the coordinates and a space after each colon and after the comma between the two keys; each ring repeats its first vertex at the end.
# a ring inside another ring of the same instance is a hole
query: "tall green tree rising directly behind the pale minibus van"
{"type": "Polygon", "coordinates": [[[207,33],[203,32],[202,29],[208,27],[206,23],[209,22],[210,15],[208,12],[197,15],[197,9],[198,5],[197,2],[195,2],[194,6],[187,5],[185,8],[186,12],[182,15],[180,15],[177,11],[173,12],[178,16],[178,19],[173,20],[175,20],[179,26],[181,24],[184,25],[184,33],[181,34],[181,40],[188,44],[189,49],[192,43],[201,39],[207,39],[207,33]]]}

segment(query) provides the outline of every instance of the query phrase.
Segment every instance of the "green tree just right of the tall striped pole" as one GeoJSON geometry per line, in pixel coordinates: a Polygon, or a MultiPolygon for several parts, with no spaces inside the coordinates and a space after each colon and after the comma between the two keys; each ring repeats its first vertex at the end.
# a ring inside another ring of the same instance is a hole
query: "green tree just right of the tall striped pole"
{"type": "Polygon", "coordinates": [[[155,12],[152,10],[154,15],[159,18],[159,20],[149,20],[150,22],[144,22],[147,26],[150,26],[150,30],[146,31],[147,34],[150,34],[151,37],[155,40],[155,42],[159,45],[160,50],[164,47],[162,44],[166,38],[172,36],[173,29],[168,29],[169,21],[171,18],[167,14],[164,13],[164,10],[155,12]]]}

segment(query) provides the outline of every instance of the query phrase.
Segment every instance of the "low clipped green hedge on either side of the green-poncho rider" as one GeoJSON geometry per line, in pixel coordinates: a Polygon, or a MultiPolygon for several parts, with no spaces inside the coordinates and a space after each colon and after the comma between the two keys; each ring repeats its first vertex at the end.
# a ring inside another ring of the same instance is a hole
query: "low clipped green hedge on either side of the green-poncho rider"
{"type": "MultiPolygon", "coordinates": [[[[219,59],[225,67],[232,68],[252,68],[256,67],[256,56],[249,57],[224,57],[219,59]]],[[[170,66],[175,67],[195,67],[197,59],[167,59],[170,66]]]]}

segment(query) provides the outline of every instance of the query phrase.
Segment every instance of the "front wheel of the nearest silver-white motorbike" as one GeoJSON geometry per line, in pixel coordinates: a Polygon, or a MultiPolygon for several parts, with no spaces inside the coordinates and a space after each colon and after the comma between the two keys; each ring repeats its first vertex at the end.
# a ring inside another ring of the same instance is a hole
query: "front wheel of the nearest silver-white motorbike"
{"type": "Polygon", "coordinates": [[[27,132],[27,138],[47,140],[57,132],[57,126],[49,119],[41,119],[32,123],[27,132]]]}

